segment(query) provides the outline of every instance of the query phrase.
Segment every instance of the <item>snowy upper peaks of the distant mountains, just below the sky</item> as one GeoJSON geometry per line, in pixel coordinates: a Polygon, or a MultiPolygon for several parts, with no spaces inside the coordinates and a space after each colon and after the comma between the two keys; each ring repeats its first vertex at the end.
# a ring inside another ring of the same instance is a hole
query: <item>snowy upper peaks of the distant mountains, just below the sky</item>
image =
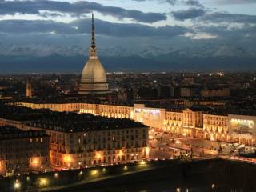
{"type": "MultiPolygon", "coordinates": [[[[51,46],[51,45],[0,45],[0,56],[86,56],[88,49],[79,46],[51,46]]],[[[182,48],[161,46],[118,46],[99,48],[98,54],[105,57],[131,57],[142,58],[182,57],[182,58],[256,58],[255,47],[227,46],[204,44],[182,48]]]]}

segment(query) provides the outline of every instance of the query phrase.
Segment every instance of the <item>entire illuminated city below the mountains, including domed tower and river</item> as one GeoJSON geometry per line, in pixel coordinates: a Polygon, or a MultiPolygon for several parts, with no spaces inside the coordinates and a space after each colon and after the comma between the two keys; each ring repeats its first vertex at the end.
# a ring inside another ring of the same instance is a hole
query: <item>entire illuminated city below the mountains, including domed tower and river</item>
{"type": "Polygon", "coordinates": [[[255,71],[106,72],[90,33],[81,73],[0,74],[1,191],[256,190],[255,71]]]}

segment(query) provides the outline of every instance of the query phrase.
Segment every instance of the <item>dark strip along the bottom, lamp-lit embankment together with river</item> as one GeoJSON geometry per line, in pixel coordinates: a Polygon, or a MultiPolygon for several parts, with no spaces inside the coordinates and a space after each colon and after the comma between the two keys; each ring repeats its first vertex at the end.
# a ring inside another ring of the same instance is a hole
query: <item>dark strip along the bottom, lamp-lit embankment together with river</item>
{"type": "Polygon", "coordinates": [[[1,191],[135,192],[144,189],[158,192],[214,189],[227,192],[234,189],[250,192],[256,191],[255,173],[254,165],[222,159],[166,160],[30,174],[0,179],[0,187],[1,191]],[[18,189],[14,189],[16,181],[18,189]]]}

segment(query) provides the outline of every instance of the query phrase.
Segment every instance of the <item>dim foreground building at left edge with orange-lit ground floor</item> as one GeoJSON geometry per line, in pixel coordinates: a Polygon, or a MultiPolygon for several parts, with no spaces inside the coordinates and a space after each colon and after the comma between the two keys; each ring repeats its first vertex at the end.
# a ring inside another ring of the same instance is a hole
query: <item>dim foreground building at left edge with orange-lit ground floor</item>
{"type": "Polygon", "coordinates": [[[21,174],[50,168],[45,131],[0,126],[0,174],[21,174]]]}

